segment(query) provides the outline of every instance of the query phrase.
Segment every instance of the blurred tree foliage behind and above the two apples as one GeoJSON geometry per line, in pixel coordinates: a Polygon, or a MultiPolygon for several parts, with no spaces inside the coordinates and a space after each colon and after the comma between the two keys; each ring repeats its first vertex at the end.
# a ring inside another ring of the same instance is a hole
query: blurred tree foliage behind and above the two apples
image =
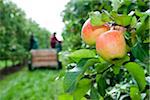
{"type": "MultiPolygon", "coordinates": [[[[144,2],[142,2],[142,0],[71,0],[66,5],[66,9],[62,12],[63,21],[65,23],[62,34],[65,40],[63,47],[67,50],[78,49],[84,46],[84,43],[81,41],[80,32],[83,23],[92,11],[117,11],[119,14],[124,14],[124,16],[131,11],[135,11],[137,17],[139,17],[142,16],[140,12],[144,12],[148,8],[148,0],[144,0],[144,2]]],[[[124,16],[122,18],[124,18],[124,16]]],[[[121,17],[117,19],[117,24],[119,20],[122,20],[121,17]]],[[[126,22],[126,20],[124,21],[126,22]]],[[[134,26],[135,20],[136,18],[132,20],[132,26],[134,26]]]]}

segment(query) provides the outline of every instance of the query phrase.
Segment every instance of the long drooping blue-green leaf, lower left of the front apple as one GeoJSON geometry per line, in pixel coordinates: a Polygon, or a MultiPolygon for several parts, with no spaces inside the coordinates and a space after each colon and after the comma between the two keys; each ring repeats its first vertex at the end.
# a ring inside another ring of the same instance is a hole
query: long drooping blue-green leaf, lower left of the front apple
{"type": "Polygon", "coordinates": [[[76,72],[67,72],[64,77],[64,90],[72,92],[76,88],[78,80],[80,80],[82,73],[87,70],[89,66],[93,66],[99,59],[83,58],[77,63],[78,70],[76,72]]]}

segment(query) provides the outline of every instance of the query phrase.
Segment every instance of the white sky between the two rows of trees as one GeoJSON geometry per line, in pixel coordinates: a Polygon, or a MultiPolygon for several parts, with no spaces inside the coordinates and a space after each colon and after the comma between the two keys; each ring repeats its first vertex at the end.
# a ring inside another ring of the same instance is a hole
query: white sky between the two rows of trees
{"type": "Polygon", "coordinates": [[[61,12],[69,0],[11,0],[41,27],[50,32],[57,32],[57,38],[62,40],[61,33],[64,28],[61,12]]]}

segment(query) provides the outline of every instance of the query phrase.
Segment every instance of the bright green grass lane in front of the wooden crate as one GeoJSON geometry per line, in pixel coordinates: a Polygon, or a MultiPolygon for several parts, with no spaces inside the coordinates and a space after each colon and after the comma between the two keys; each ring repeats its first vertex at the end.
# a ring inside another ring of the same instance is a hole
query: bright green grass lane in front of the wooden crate
{"type": "Polygon", "coordinates": [[[26,68],[0,81],[0,100],[57,100],[63,93],[62,79],[55,80],[60,71],[26,68]]]}

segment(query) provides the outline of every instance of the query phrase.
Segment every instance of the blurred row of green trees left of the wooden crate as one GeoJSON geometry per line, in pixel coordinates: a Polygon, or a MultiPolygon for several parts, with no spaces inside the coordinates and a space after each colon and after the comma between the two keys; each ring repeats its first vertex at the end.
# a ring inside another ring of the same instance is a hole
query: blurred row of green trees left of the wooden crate
{"type": "Polygon", "coordinates": [[[49,46],[50,33],[46,29],[27,19],[14,3],[0,0],[0,58],[26,56],[31,33],[38,39],[39,48],[49,46]]]}

